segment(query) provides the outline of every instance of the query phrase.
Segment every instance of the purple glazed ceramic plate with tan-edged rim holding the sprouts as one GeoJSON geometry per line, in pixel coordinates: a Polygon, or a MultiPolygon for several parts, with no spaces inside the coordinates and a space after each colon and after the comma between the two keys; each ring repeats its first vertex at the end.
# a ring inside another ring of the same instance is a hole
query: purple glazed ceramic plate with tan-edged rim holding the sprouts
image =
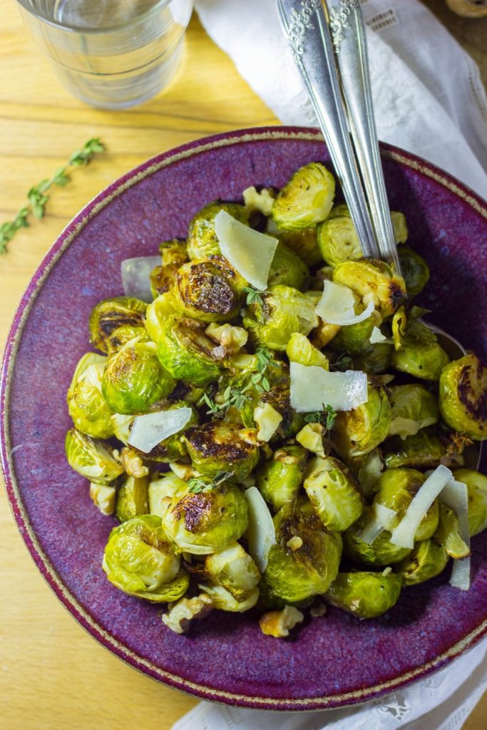
{"type": "MultiPolygon", "coordinates": [[[[329,608],[288,640],[261,634],[256,615],[214,612],[173,634],[161,608],[126,596],[101,570],[115,519],[93,507],[69,468],[66,388],[89,348],[88,315],[121,293],[120,261],[185,237],[213,199],[248,185],[280,187],[299,166],[329,163],[318,131],[258,128],[201,139],[146,162],[88,204],[37,269],[9,334],[1,381],[1,456],[28,550],[74,618],[145,674],[204,699],[272,710],[363,702],[448,664],[487,630],[487,531],[473,540],[472,588],[448,575],[402,592],[391,612],[358,621],[329,608]]],[[[487,355],[487,205],[420,159],[383,145],[391,208],[432,266],[422,303],[432,321],[487,355]]],[[[485,469],[485,464],[484,464],[485,469]]]]}

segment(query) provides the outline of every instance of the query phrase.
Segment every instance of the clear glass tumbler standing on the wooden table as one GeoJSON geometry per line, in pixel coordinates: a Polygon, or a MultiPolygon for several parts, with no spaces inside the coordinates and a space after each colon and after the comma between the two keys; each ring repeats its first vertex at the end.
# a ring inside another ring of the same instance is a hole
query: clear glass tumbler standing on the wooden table
{"type": "Polygon", "coordinates": [[[175,75],[193,0],[18,0],[61,82],[101,109],[150,99],[175,75]]]}

